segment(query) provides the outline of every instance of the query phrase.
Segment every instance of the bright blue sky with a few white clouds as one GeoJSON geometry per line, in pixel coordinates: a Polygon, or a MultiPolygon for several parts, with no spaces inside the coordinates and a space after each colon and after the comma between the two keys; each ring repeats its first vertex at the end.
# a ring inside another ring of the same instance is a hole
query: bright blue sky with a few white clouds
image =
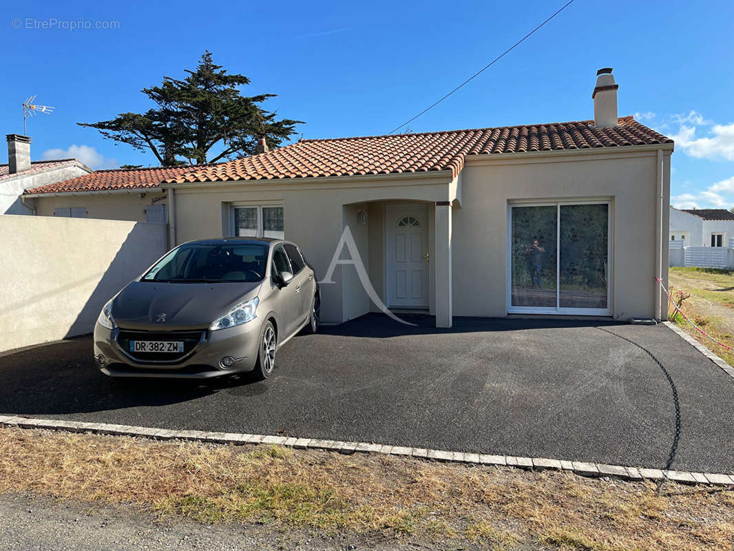
{"type": "MultiPolygon", "coordinates": [[[[56,110],[29,121],[34,160],[77,156],[95,168],[154,166],[152,154],[75,123],[148,109],[139,90],[163,75],[182,76],[208,49],[219,65],[250,77],[247,95],[278,94],[266,107],[305,120],[303,137],[385,134],[563,4],[18,2],[0,18],[0,129],[22,133],[21,103],[37,94],[37,103],[56,110]],[[98,21],[116,28],[95,29],[98,21]],[[80,22],[92,28],[71,28],[80,22]]],[[[410,129],[592,118],[596,70],[613,67],[619,115],[636,114],[676,140],[672,204],[729,208],[733,23],[730,0],[575,0],[410,129]]]]}

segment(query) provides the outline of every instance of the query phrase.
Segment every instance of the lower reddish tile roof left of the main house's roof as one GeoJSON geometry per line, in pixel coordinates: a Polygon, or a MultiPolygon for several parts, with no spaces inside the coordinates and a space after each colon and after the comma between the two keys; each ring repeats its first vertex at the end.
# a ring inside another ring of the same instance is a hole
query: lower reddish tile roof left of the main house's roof
{"type": "MultiPolygon", "coordinates": [[[[202,165],[212,167],[215,165],[202,165]]],[[[162,181],[175,178],[181,174],[190,173],[195,170],[192,165],[182,167],[156,167],[156,168],[117,168],[115,170],[96,170],[90,174],[84,174],[78,178],[59,181],[56,184],[48,184],[26,190],[25,195],[36,193],[64,193],[85,192],[103,190],[134,190],[146,187],[159,187],[162,181]]]]}

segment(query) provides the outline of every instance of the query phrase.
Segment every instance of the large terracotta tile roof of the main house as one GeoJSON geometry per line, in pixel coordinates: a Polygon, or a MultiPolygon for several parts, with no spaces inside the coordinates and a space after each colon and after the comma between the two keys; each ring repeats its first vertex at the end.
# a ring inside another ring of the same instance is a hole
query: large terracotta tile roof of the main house
{"type": "Polygon", "coordinates": [[[355,174],[451,170],[456,175],[467,155],[620,147],[672,143],[632,117],[619,125],[594,128],[591,120],[501,128],[300,140],[286,147],[223,162],[166,181],[299,179],[355,174]]]}

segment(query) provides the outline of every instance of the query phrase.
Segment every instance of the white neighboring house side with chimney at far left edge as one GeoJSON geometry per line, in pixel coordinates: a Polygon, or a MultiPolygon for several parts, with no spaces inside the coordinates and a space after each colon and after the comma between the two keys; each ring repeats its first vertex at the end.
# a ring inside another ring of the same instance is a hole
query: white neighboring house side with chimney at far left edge
{"type": "Polygon", "coordinates": [[[0,165],[0,215],[32,215],[23,192],[33,187],[56,184],[92,169],[76,159],[31,162],[31,139],[20,134],[7,134],[7,165],[0,165]]]}

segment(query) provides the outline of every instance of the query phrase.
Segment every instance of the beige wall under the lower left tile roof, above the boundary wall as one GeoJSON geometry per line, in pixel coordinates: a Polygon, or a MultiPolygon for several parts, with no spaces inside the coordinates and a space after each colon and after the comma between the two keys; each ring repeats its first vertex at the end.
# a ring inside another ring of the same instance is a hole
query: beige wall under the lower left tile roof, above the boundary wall
{"type": "Polygon", "coordinates": [[[54,210],[58,208],[80,207],[87,209],[87,218],[145,222],[145,208],[153,204],[154,199],[159,199],[154,204],[166,204],[164,193],[157,189],[45,193],[32,195],[25,201],[36,209],[38,216],[54,216],[54,210]]]}

